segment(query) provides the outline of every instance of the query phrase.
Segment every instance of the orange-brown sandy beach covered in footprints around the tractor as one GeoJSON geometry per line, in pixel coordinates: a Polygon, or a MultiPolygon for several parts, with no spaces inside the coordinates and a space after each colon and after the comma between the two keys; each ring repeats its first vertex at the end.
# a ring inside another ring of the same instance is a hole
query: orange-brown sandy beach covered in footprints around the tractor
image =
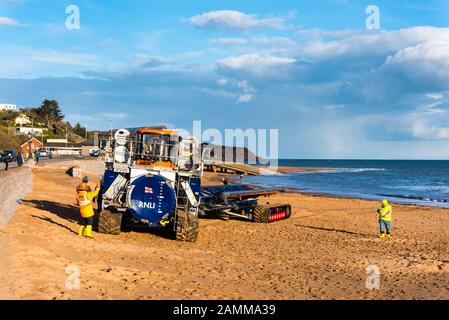
{"type": "Polygon", "coordinates": [[[3,299],[449,299],[448,209],[394,204],[394,237],[379,239],[375,201],[280,193],[263,201],[290,203],[289,220],[201,220],[196,243],[147,231],[92,240],[77,236],[66,166],[33,168],[32,192],[0,229],[3,299]],[[66,286],[73,266],[79,289],[66,286]],[[370,266],[378,290],[366,288],[370,266]]]}

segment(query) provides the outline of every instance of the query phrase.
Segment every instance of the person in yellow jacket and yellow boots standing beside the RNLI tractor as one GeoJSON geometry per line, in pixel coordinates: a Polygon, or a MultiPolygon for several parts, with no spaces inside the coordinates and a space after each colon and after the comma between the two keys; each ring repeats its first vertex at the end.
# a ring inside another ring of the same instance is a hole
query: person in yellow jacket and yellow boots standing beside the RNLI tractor
{"type": "Polygon", "coordinates": [[[100,187],[97,185],[94,191],[90,191],[88,185],[89,177],[84,177],[80,185],[76,188],[77,197],[76,201],[80,206],[80,228],[78,231],[78,236],[93,238],[92,235],[92,225],[94,222],[94,209],[92,207],[92,199],[98,196],[100,192],[100,187]]]}

